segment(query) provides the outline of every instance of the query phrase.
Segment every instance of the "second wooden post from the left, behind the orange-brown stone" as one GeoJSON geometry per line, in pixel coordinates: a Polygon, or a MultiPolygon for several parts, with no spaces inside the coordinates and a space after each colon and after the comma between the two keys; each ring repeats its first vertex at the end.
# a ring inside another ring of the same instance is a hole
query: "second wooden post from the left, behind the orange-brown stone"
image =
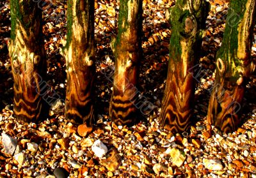
{"type": "Polygon", "coordinates": [[[95,77],[94,1],[68,1],[67,93],[65,116],[77,122],[94,122],[93,81],[95,77]]]}

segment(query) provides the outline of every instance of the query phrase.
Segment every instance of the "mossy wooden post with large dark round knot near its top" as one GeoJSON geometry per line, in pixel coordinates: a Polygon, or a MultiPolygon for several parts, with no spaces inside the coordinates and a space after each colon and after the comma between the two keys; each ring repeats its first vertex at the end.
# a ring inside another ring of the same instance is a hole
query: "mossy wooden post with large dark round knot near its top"
{"type": "Polygon", "coordinates": [[[160,124],[173,132],[188,129],[193,115],[195,79],[193,71],[202,43],[207,15],[205,1],[176,1],[170,8],[170,59],[160,124]]]}

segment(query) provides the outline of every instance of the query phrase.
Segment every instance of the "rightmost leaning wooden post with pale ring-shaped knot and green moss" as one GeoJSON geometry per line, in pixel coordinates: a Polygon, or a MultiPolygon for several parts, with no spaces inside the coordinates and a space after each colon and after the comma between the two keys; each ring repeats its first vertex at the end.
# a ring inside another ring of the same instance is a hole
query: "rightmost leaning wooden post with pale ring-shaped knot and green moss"
{"type": "Polygon", "coordinates": [[[207,121],[221,131],[236,130],[246,78],[253,70],[251,45],[255,0],[230,1],[222,45],[216,55],[216,77],[207,121]]]}

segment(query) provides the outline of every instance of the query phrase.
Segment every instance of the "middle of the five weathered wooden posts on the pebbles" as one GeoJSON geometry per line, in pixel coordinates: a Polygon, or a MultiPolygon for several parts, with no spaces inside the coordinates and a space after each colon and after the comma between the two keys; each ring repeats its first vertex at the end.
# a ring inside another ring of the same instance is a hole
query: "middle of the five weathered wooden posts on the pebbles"
{"type": "Polygon", "coordinates": [[[116,124],[135,122],[140,114],[136,102],[141,58],[141,13],[141,0],[120,1],[118,36],[113,46],[116,66],[109,107],[109,116],[116,124]]]}

